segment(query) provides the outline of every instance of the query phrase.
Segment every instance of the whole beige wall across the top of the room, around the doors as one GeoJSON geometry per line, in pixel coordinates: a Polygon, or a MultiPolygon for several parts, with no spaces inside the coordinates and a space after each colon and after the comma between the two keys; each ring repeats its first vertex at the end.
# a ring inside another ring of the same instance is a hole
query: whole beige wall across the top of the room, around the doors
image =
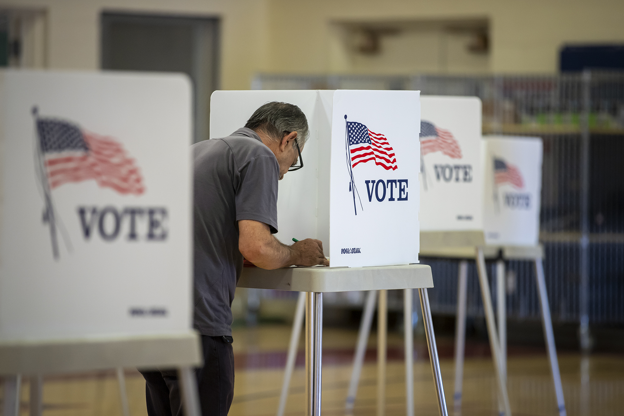
{"type": "MultiPolygon", "coordinates": [[[[0,0],[0,4],[46,9],[51,68],[99,68],[103,10],[219,16],[223,89],[248,89],[256,72],[348,70],[335,21],[487,18],[489,72],[552,73],[565,42],[624,42],[622,0],[0,0]]],[[[374,71],[396,72],[393,67],[389,62],[386,68],[376,65],[374,71]]]]}

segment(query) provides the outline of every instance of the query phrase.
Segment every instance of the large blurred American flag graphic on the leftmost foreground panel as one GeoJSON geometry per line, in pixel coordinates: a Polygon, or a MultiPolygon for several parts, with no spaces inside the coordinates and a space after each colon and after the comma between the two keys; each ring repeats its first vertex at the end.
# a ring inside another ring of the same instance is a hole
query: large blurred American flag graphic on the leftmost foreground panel
{"type": "Polygon", "coordinates": [[[50,189],[94,179],[100,187],[120,194],[145,192],[139,167],[112,137],[84,131],[59,119],[37,117],[36,125],[50,189]]]}

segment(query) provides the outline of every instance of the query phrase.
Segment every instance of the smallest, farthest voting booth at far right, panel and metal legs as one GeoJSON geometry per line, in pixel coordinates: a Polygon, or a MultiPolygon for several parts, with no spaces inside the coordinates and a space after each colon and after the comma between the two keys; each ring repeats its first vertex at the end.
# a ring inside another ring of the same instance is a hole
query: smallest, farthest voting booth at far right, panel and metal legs
{"type": "MultiPolygon", "coordinates": [[[[540,192],[542,189],[542,139],[539,137],[485,136],[482,141],[484,166],[484,232],[485,250],[497,257],[497,319],[500,349],[500,371],[506,377],[507,329],[505,324],[505,259],[532,260],[535,263],[537,293],[542,310],[542,326],[551,373],[555,385],[558,413],[565,416],[565,401],[550,319],[550,307],[544,277],[543,249],[539,244],[540,192]],[[493,248],[493,250],[492,250],[493,248]]],[[[484,270],[485,271],[485,270],[484,270]]],[[[463,331],[466,316],[466,285],[460,282],[457,301],[458,320],[463,331]]],[[[462,334],[463,338],[463,334],[462,334]]],[[[463,344],[462,348],[463,350],[463,344]]],[[[463,357],[462,357],[463,359],[463,357]]],[[[459,367],[462,360],[457,360],[459,367]]],[[[456,371],[456,375],[461,371],[456,371]]],[[[461,385],[456,379],[456,392],[461,399],[461,385]]]]}

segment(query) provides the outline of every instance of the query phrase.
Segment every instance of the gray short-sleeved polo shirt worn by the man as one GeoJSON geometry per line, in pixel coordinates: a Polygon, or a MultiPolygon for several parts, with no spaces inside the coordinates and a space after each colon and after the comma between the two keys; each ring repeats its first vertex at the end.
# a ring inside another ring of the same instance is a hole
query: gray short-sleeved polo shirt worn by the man
{"type": "Polygon", "coordinates": [[[251,129],[192,146],[195,316],[202,335],[232,335],[232,300],[243,269],[238,220],[277,232],[280,166],[251,129]]]}

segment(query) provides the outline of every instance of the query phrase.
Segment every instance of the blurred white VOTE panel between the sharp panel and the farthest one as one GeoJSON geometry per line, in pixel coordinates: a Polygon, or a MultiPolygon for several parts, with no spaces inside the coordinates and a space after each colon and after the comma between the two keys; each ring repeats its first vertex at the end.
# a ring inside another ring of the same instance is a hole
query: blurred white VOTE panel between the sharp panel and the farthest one
{"type": "Polygon", "coordinates": [[[483,229],[481,101],[421,96],[421,232],[483,229]]]}

